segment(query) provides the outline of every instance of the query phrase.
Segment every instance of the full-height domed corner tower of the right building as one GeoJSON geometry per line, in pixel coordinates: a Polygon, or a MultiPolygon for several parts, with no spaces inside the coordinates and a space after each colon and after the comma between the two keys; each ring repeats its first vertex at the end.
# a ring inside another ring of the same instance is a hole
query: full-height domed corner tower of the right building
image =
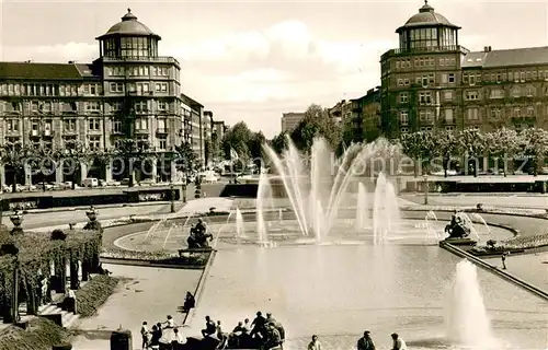
{"type": "Polygon", "coordinates": [[[380,57],[381,128],[387,137],[456,128],[460,61],[469,52],[458,44],[459,30],[427,0],[396,30],[399,48],[380,57]]]}

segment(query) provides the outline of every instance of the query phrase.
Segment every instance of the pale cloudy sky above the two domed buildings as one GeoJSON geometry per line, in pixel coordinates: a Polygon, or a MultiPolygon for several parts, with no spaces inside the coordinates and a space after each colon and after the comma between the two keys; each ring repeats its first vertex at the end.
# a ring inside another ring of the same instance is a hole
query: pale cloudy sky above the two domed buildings
{"type": "MultiPolygon", "coordinates": [[[[228,125],[266,137],[286,112],[331,107],[379,85],[379,57],[423,1],[0,0],[2,60],[91,62],[95,37],[132,9],[182,66],[181,89],[228,125]]],[[[547,45],[548,0],[431,0],[471,50],[547,45]]]]}

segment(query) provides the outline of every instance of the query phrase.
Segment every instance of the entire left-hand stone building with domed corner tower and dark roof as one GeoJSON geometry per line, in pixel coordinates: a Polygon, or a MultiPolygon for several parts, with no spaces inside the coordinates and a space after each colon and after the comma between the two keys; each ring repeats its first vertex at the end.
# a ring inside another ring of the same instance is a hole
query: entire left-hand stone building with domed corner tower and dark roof
{"type": "MultiPolygon", "coordinates": [[[[99,58],[92,63],[0,62],[0,144],[21,143],[45,152],[81,144],[102,154],[116,150],[124,139],[142,140],[158,160],[137,165],[137,179],[176,179],[174,147],[190,142],[204,159],[207,136],[202,130],[203,106],[183,104],[179,61],[159,56],[161,37],[129,9],[96,39],[99,58]],[[191,120],[196,115],[197,124],[191,120]]],[[[64,174],[69,164],[47,172],[25,167],[19,178],[7,164],[1,183],[121,179],[129,176],[121,163],[99,158],[82,162],[76,178],[64,174]]]]}

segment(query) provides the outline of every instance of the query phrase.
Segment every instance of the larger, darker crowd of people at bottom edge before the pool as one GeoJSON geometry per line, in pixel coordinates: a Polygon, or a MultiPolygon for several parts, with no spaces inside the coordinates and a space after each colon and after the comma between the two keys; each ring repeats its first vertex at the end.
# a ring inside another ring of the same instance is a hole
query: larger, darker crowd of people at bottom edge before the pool
{"type": "Polygon", "coordinates": [[[253,322],[246,318],[229,334],[222,331],[220,320],[215,323],[209,316],[205,320],[202,336],[217,339],[217,349],[283,349],[285,329],[270,313],[263,316],[262,312],[258,312],[253,322]]]}

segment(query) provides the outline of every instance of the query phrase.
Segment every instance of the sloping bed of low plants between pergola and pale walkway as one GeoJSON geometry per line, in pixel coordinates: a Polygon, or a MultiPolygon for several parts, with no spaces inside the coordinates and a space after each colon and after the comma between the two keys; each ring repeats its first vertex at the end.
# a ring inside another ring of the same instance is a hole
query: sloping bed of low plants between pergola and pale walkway
{"type": "Polygon", "coordinates": [[[81,317],[93,316],[114,293],[118,281],[117,278],[110,276],[94,276],[91,281],[76,291],[78,314],[81,317]]]}

